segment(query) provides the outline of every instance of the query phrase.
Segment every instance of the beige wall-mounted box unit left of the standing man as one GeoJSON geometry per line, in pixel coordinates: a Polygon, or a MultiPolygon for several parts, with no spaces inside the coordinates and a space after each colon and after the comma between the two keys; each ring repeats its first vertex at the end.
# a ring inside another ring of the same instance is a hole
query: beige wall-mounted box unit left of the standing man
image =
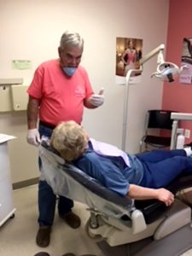
{"type": "Polygon", "coordinates": [[[23,79],[0,79],[0,112],[26,110],[27,87],[23,79]]]}

